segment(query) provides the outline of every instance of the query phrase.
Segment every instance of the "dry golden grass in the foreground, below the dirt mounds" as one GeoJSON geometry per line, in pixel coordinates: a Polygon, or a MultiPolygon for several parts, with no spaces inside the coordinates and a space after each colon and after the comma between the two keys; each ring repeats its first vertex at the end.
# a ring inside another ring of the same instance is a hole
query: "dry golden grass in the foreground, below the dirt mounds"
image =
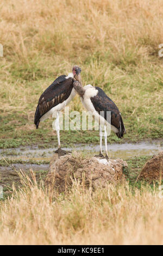
{"type": "MultiPolygon", "coordinates": [[[[33,176],[34,177],[34,176],[33,176]]],[[[24,187],[1,202],[1,244],[163,244],[163,204],[158,190],[129,185],[84,190],[74,182],[67,196],[38,187],[22,176],[24,187]]]]}

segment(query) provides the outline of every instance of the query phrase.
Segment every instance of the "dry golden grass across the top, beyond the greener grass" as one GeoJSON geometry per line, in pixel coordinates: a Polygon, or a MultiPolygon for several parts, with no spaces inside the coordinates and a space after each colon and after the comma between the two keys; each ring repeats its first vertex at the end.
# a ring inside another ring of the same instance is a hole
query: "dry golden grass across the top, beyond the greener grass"
{"type": "Polygon", "coordinates": [[[40,52],[71,59],[111,49],[116,60],[129,47],[145,57],[163,41],[162,17],[161,0],[5,0],[0,38],[5,56],[27,64],[40,52]]]}

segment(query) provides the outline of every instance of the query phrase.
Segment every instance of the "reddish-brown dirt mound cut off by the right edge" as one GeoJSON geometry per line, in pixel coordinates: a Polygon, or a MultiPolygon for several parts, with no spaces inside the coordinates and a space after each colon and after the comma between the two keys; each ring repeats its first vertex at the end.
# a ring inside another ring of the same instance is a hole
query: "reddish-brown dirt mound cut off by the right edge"
{"type": "Polygon", "coordinates": [[[152,182],[159,180],[160,177],[163,178],[163,151],[145,163],[137,179],[146,179],[152,182]]]}

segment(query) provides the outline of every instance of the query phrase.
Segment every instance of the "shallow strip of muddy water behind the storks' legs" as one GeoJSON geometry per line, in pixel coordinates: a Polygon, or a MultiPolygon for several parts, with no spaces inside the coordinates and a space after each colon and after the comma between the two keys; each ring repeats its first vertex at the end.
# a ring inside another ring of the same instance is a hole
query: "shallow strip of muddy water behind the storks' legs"
{"type": "MultiPolygon", "coordinates": [[[[76,144],[72,148],[62,148],[67,151],[77,150],[98,154],[99,145],[95,144],[76,144]]],[[[0,149],[0,159],[2,156],[10,160],[33,160],[50,161],[54,151],[57,148],[39,149],[38,147],[20,147],[11,149],[0,149]]],[[[103,147],[104,150],[104,147],[103,147]]],[[[142,141],[139,143],[108,144],[108,153],[110,157],[120,157],[128,159],[134,156],[154,155],[163,150],[163,139],[153,141],[142,141]]]]}

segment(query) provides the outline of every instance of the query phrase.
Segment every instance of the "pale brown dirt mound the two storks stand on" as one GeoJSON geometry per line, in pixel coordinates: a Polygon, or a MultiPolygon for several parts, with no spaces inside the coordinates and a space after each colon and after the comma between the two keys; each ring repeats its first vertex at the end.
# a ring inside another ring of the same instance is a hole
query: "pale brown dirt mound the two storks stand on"
{"type": "Polygon", "coordinates": [[[79,180],[86,187],[105,187],[109,182],[124,179],[123,167],[127,163],[122,159],[109,160],[96,157],[83,157],[80,153],[61,156],[55,154],[49,166],[46,183],[52,184],[59,192],[64,192],[72,185],[72,180],[79,180]]]}

